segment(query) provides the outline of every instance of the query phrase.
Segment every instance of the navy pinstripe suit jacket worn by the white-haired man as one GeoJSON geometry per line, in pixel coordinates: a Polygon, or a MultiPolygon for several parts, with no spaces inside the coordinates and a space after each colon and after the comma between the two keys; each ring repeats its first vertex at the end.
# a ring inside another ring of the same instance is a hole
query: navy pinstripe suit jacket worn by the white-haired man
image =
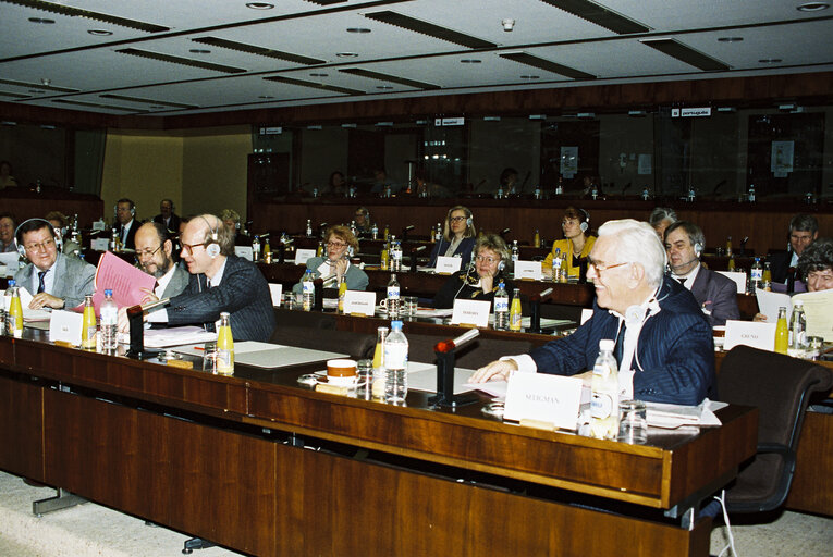
{"type": "MultiPolygon", "coordinates": [[[[691,293],[664,277],[660,311],[645,321],[634,356],[634,398],[697,405],[716,397],[714,344],[691,293]]],[[[574,375],[590,370],[599,341],[616,338],[618,318],[593,301],[593,315],[569,336],[530,352],[541,373],[574,375]]]]}

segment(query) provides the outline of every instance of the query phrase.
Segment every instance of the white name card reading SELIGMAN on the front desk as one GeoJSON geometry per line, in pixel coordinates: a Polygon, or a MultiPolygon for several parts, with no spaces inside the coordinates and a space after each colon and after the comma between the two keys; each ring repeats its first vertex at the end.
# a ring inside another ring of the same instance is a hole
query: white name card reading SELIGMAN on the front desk
{"type": "Polygon", "coordinates": [[[581,380],[548,373],[513,373],[506,385],[504,420],[532,420],[575,430],[581,380]]]}

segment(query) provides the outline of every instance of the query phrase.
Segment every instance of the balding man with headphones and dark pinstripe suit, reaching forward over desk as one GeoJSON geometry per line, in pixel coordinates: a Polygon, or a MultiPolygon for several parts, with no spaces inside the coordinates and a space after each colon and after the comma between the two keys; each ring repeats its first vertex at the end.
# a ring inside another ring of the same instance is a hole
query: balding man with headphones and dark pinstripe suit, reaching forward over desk
{"type": "MultiPolygon", "coordinates": [[[[268,341],[274,329],[269,285],[254,263],[234,255],[233,231],[213,214],[201,214],[188,221],[181,242],[188,285],[148,321],[216,331],[220,312],[228,311],[235,341],[268,341]]],[[[119,311],[119,329],[130,330],[126,308],[119,311]]]]}

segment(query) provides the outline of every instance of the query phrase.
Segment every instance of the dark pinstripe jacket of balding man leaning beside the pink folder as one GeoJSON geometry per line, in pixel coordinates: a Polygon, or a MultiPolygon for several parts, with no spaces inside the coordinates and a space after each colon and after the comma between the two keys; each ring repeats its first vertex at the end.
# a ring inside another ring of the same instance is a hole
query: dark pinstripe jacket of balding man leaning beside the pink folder
{"type": "Polygon", "coordinates": [[[228,256],[223,278],[209,288],[205,274],[193,274],[182,294],[171,299],[169,325],[205,325],[215,331],[220,312],[231,313],[235,341],[268,341],[274,330],[274,310],[269,285],[257,267],[237,256],[228,256]]]}

